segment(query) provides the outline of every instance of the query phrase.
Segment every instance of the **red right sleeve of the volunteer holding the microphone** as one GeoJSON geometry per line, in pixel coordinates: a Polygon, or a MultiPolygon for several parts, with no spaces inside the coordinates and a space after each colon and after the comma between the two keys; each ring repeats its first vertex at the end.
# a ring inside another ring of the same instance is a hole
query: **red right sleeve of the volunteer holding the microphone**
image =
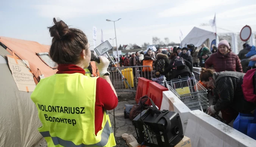
{"type": "Polygon", "coordinates": [[[115,109],[118,104],[118,98],[110,84],[101,77],[97,78],[96,97],[98,97],[101,106],[106,110],[115,109]]]}

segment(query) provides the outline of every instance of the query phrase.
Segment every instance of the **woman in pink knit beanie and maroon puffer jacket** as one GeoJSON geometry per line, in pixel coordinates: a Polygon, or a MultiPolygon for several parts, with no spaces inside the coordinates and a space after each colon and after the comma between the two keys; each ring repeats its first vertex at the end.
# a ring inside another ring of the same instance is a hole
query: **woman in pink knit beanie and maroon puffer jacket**
{"type": "Polygon", "coordinates": [[[235,71],[243,72],[239,57],[232,52],[228,41],[221,40],[217,53],[212,54],[205,61],[205,68],[213,67],[216,72],[235,71]]]}

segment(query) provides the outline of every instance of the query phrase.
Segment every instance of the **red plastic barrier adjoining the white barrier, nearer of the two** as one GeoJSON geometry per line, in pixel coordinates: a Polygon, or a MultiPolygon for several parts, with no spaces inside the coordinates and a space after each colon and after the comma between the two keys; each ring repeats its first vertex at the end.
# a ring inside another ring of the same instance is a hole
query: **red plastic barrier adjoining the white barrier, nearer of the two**
{"type": "MultiPolygon", "coordinates": [[[[153,102],[158,106],[159,110],[162,104],[163,91],[167,91],[168,89],[156,82],[150,82],[148,86],[148,97],[150,97],[153,102]]],[[[146,104],[152,105],[150,100],[147,100],[146,104]]]]}

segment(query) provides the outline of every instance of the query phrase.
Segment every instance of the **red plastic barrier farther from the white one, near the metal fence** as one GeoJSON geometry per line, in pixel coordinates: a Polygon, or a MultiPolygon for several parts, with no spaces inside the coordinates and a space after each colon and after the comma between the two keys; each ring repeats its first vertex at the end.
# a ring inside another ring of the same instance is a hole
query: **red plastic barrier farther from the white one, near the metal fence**
{"type": "Polygon", "coordinates": [[[136,96],[135,96],[136,103],[139,103],[139,99],[148,93],[149,82],[151,82],[151,80],[148,80],[148,79],[142,78],[142,77],[139,78],[136,96]]]}

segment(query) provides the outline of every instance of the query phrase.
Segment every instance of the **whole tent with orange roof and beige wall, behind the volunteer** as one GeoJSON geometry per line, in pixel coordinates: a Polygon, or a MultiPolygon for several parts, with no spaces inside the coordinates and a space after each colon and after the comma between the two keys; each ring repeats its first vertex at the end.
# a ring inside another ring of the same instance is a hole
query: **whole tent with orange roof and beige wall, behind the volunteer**
{"type": "Polygon", "coordinates": [[[48,52],[49,46],[7,37],[0,37],[0,44],[5,47],[0,46],[0,147],[31,147],[42,138],[37,130],[42,124],[30,98],[32,92],[18,90],[6,56],[12,55],[12,50],[22,60],[27,60],[35,75],[35,83],[40,75],[37,69],[45,77],[55,74],[56,69],[49,67],[36,55],[48,52]]]}

